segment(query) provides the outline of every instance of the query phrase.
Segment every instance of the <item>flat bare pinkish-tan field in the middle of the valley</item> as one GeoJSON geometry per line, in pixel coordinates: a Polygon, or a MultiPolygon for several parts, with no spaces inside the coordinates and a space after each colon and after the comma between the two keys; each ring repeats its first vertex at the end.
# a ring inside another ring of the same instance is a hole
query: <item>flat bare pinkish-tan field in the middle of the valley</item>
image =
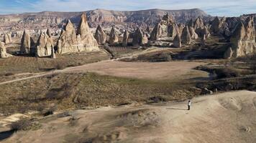
{"type": "Polygon", "coordinates": [[[170,61],[170,62],[123,62],[100,61],[93,64],[76,66],[65,71],[90,71],[98,74],[137,79],[190,79],[208,77],[204,71],[194,70],[200,62],[170,61]]]}

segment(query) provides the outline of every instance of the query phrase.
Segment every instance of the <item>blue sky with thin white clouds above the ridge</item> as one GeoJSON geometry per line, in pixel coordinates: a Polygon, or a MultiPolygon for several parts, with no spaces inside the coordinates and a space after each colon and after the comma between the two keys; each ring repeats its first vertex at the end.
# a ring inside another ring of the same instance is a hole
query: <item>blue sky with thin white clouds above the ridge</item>
{"type": "Polygon", "coordinates": [[[0,14],[109,9],[202,9],[212,16],[256,13],[256,0],[0,0],[0,14]]]}

